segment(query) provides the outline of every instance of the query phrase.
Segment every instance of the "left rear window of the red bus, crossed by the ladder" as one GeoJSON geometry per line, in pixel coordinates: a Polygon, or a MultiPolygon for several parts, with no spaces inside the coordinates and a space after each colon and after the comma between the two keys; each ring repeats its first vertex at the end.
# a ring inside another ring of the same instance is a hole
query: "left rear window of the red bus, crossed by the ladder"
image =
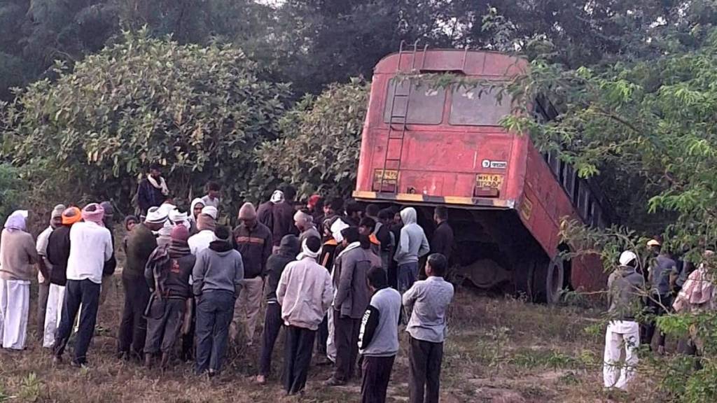
{"type": "Polygon", "coordinates": [[[427,84],[409,82],[409,80],[402,80],[398,85],[398,90],[396,80],[389,82],[389,91],[386,96],[386,106],[384,108],[385,123],[389,123],[391,115],[393,115],[393,123],[403,123],[407,99],[407,123],[422,125],[437,125],[441,123],[443,118],[443,105],[445,105],[446,100],[445,88],[432,88],[427,84]],[[410,91],[409,85],[411,85],[410,91]],[[394,97],[394,94],[397,94],[397,96],[394,97]],[[402,96],[405,94],[410,95],[409,97],[402,96]],[[392,111],[391,103],[393,103],[392,111]]]}

